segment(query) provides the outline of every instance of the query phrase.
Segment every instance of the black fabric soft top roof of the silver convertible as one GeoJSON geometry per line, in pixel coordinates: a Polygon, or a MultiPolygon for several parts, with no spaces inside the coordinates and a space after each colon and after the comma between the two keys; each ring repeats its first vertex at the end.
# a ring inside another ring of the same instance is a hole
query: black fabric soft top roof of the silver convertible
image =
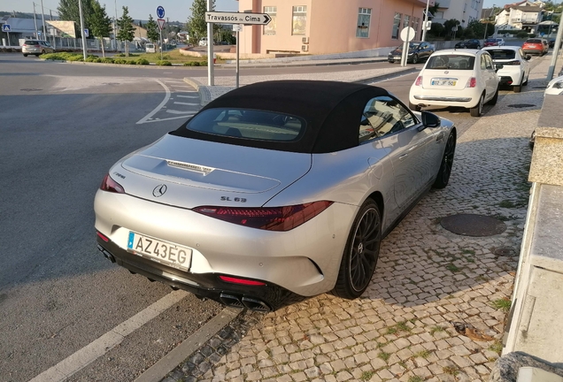
{"type": "MultiPolygon", "coordinates": [[[[387,90],[349,82],[276,80],[237,88],[208,103],[201,111],[237,108],[276,111],[304,118],[305,134],[298,141],[255,141],[205,134],[186,128],[170,134],[204,141],[218,141],[261,149],[301,153],[328,153],[359,144],[359,123],[367,101],[387,90]]],[[[197,114],[193,118],[197,118],[197,114]]]]}

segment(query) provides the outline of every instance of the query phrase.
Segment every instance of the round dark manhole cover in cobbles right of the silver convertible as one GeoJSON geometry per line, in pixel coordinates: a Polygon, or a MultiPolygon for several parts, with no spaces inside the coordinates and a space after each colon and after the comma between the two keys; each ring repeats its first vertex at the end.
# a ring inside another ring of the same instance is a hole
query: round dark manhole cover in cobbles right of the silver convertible
{"type": "Polygon", "coordinates": [[[497,218],[473,214],[451,215],[443,218],[440,224],[448,231],[464,236],[492,236],[506,230],[505,223],[497,218]]]}

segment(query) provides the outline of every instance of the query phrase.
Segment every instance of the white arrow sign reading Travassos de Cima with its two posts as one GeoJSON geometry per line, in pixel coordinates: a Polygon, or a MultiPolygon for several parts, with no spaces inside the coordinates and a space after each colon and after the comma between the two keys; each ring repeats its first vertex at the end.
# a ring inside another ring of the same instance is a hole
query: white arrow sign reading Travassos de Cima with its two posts
{"type": "MultiPolygon", "coordinates": [[[[209,0],[208,0],[209,2],[209,0]]],[[[208,3],[208,10],[209,3],[208,3]]],[[[250,12],[216,12],[216,11],[206,11],[205,12],[205,22],[207,23],[207,48],[208,55],[207,61],[209,70],[209,85],[213,85],[213,71],[212,71],[212,61],[209,57],[212,57],[213,53],[213,39],[210,30],[212,23],[221,24],[233,24],[233,31],[236,32],[236,88],[239,85],[239,51],[240,51],[240,39],[239,33],[243,30],[244,25],[267,25],[272,18],[267,13],[250,13],[250,12]]],[[[412,28],[411,28],[412,29],[412,28]]]]}

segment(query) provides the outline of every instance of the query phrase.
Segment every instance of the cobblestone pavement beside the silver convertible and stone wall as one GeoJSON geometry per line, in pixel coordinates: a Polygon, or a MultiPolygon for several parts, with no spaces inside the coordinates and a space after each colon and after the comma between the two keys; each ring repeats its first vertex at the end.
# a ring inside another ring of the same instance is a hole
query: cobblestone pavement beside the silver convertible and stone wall
{"type": "Polygon", "coordinates": [[[502,348],[528,205],[528,137],[548,66],[544,59],[524,92],[499,98],[460,134],[450,185],[382,241],[361,298],[321,294],[244,313],[164,381],[487,380],[502,348]],[[532,106],[510,107],[524,103],[532,106]],[[444,230],[440,219],[459,213],[507,228],[488,237],[444,230]],[[460,334],[452,323],[475,330],[460,334]]]}

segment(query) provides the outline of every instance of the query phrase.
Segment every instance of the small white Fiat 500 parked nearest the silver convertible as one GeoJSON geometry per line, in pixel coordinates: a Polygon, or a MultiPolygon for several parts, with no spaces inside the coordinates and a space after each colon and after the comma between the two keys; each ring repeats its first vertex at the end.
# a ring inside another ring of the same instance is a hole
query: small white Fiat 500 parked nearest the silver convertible
{"type": "MultiPolygon", "coordinates": [[[[498,69],[502,67],[497,65],[498,69]]],[[[411,86],[409,107],[459,106],[480,117],[483,104],[497,103],[498,84],[489,52],[437,50],[411,86]]]]}

